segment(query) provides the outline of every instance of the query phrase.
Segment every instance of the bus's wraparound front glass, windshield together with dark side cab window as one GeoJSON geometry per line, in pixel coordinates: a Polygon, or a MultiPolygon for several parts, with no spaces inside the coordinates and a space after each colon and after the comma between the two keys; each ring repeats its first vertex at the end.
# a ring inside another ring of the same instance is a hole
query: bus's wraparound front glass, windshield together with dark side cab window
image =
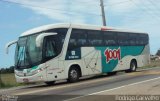
{"type": "Polygon", "coordinates": [[[45,32],[53,32],[57,33],[57,35],[47,36],[43,41],[42,47],[36,46],[36,38],[43,32],[19,38],[15,54],[15,66],[17,69],[31,68],[61,53],[67,29],[57,28],[45,32]]]}

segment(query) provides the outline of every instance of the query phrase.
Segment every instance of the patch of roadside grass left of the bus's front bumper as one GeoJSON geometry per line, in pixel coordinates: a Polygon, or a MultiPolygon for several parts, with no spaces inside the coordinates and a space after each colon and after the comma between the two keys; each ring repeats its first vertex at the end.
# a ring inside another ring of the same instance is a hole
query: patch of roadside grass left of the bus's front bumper
{"type": "Polygon", "coordinates": [[[20,84],[16,82],[14,73],[0,74],[0,79],[1,79],[0,89],[25,85],[25,84],[20,84]]]}

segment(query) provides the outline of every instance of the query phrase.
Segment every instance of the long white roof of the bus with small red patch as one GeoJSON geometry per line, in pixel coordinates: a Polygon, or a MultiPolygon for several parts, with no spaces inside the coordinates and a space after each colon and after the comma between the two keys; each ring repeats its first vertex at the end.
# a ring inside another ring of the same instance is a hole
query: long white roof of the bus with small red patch
{"type": "Polygon", "coordinates": [[[71,24],[71,23],[57,23],[57,24],[49,24],[40,27],[33,28],[21,34],[22,36],[31,35],[34,33],[42,32],[45,30],[53,29],[53,28],[77,28],[77,29],[89,29],[89,30],[103,30],[103,31],[118,31],[118,32],[131,32],[131,33],[145,33],[133,30],[125,30],[125,29],[117,29],[113,27],[106,26],[96,26],[96,25],[87,25],[87,24],[71,24]]]}

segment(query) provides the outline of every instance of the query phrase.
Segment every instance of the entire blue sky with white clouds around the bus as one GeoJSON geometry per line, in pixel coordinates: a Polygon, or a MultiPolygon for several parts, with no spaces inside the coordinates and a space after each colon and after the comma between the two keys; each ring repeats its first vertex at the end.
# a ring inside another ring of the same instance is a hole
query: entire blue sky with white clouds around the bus
{"type": "MultiPolygon", "coordinates": [[[[149,34],[151,54],[160,48],[159,0],[104,0],[107,26],[149,34]]],[[[15,46],[6,43],[41,25],[102,25],[100,0],[0,0],[0,68],[14,65],[15,46]]]]}

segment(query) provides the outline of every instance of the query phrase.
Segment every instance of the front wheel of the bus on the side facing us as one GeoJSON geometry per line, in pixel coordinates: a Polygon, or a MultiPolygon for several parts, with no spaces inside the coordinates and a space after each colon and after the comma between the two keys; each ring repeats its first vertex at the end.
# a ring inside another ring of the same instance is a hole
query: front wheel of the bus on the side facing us
{"type": "Polygon", "coordinates": [[[80,72],[78,68],[76,68],[75,66],[71,67],[68,72],[68,82],[77,82],[79,80],[79,77],[80,72]]]}

